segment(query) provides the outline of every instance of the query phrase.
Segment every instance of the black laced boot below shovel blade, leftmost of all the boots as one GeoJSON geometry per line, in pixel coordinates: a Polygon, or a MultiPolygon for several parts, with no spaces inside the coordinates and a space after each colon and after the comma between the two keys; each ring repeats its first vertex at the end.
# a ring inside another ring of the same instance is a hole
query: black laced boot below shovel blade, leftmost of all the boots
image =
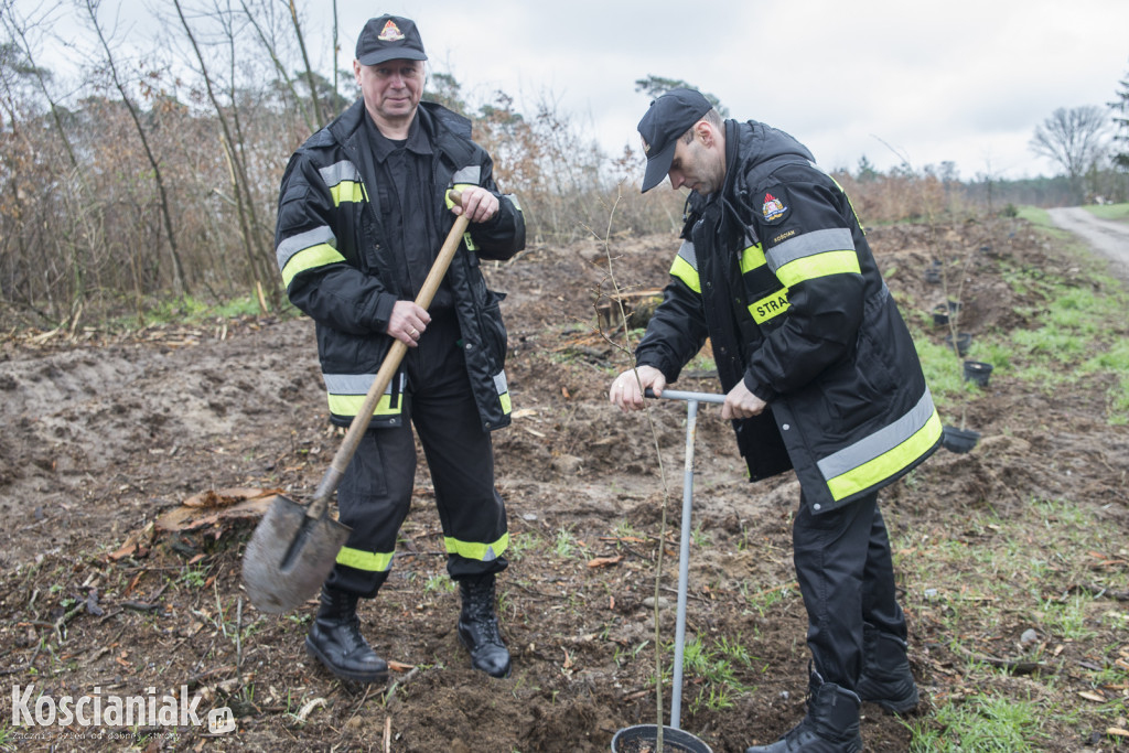
{"type": "Polygon", "coordinates": [[[345,680],[369,683],[388,677],[388,663],[360,634],[357,594],[322,587],[322,606],[306,636],[306,651],[345,680]]]}

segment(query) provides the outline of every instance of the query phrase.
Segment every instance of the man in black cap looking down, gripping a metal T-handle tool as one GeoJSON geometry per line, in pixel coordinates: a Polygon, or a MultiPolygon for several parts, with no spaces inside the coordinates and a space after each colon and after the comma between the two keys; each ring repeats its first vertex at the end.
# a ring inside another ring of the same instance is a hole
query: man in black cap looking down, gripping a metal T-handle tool
{"type": "Polygon", "coordinates": [[[942,427],[909,331],[850,202],[790,135],[723,121],[674,89],[639,122],[642,191],[691,190],[664,300],[613,382],[638,410],[707,338],[755,481],[795,469],[793,555],[812,651],[807,715],[746,753],[857,753],[861,701],[917,706],[877,491],[924,462],[942,427]]]}

